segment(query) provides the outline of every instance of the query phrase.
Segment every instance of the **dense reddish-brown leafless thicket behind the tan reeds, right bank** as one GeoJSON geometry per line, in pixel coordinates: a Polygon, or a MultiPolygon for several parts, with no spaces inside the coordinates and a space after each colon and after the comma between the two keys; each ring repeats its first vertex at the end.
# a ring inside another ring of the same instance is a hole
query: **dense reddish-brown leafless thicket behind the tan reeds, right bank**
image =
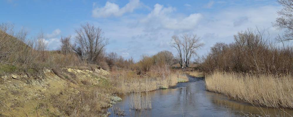
{"type": "Polygon", "coordinates": [[[204,56],[201,69],[244,73],[293,73],[292,45],[281,47],[269,42],[259,30],[247,30],[234,35],[231,44],[217,43],[204,56]]]}

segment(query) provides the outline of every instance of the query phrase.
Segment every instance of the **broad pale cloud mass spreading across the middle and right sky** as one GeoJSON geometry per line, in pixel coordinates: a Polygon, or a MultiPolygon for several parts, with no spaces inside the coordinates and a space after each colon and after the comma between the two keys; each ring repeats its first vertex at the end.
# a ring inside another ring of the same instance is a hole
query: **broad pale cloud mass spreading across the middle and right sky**
{"type": "Polygon", "coordinates": [[[115,22],[98,22],[105,37],[115,40],[107,46],[107,51],[119,55],[133,56],[135,60],[142,54],[155,54],[168,50],[176,54],[170,46],[173,35],[197,34],[205,46],[197,52],[206,54],[216,42],[230,43],[233,35],[248,27],[265,27],[272,36],[277,34],[271,22],[277,18],[280,6],[227,7],[216,12],[180,14],[172,6],[156,4],[150,13],[122,17],[115,22]],[[128,55],[128,54],[129,55],[128,55]]]}

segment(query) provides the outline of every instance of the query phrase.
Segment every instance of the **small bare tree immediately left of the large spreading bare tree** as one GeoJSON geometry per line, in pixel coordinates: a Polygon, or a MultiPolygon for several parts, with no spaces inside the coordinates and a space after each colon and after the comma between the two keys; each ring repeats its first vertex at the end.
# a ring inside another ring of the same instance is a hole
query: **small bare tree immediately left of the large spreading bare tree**
{"type": "Polygon", "coordinates": [[[60,39],[61,41],[61,52],[63,54],[68,54],[72,51],[72,44],[71,44],[71,35],[67,36],[67,37],[61,37],[60,39]]]}

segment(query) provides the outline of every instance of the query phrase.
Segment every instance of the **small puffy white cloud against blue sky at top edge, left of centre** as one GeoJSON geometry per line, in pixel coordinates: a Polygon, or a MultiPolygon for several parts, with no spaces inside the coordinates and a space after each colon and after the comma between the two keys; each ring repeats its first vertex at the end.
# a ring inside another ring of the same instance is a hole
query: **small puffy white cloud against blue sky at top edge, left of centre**
{"type": "MultiPolygon", "coordinates": [[[[93,5],[95,6],[96,3],[94,3],[93,5]]],[[[122,8],[120,8],[118,4],[107,1],[104,7],[94,8],[92,11],[92,16],[95,18],[106,18],[110,16],[118,17],[122,16],[124,13],[133,12],[133,10],[135,8],[138,8],[138,6],[140,6],[139,0],[130,0],[129,3],[122,8]]]]}

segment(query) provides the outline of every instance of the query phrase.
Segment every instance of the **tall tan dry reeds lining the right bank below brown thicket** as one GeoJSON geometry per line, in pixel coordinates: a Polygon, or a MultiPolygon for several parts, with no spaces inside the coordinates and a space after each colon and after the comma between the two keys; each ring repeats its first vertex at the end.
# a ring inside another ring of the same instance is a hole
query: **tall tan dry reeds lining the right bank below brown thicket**
{"type": "Polygon", "coordinates": [[[293,77],[274,75],[242,75],[214,72],[207,75],[207,90],[256,106],[293,108],[293,77]]]}

